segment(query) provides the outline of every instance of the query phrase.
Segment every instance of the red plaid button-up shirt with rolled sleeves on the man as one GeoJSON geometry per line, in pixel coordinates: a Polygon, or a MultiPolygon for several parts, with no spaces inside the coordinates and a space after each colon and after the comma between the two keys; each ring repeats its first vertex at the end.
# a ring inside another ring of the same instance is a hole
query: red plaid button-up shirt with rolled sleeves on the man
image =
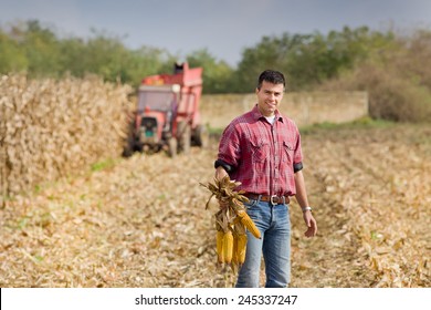
{"type": "Polygon", "coordinates": [[[296,124],[276,111],[271,125],[257,105],[228,125],[218,154],[233,167],[230,177],[241,182],[239,189],[280,196],[296,194],[293,166],[302,157],[296,124]]]}

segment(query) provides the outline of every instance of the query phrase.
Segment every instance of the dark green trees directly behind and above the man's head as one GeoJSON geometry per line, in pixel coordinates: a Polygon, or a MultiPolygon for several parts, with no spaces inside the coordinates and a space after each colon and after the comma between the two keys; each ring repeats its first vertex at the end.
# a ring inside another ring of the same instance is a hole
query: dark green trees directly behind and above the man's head
{"type": "Polygon", "coordinates": [[[256,46],[243,52],[239,64],[240,91],[248,91],[255,84],[255,76],[265,69],[276,69],[286,74],[288,89],[309,90],[322,82],[353,69],[369,55],[369,52],[389,44],[393,34],[372,32],[366,27],[341,32],[330,31],[327,35],[283,33],[278,37],[263,37],[256,46]]]}

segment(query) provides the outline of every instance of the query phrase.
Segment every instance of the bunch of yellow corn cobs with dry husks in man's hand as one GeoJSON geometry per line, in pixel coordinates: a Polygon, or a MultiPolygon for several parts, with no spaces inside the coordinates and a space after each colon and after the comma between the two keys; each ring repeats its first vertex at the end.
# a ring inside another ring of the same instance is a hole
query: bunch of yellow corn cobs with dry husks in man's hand
{"type": "Polygon", "coordinates": [[[246,214],[243,204],[249,202],[249,198],[242,195],[244,192],[234,190],[240,184],[231,180],[229,176],[220,180],[214,178],[214,183],[207,185],[201,184],[212,193],[206,208],[214,204],[214,199],[220,206],[220,210],[214,214],[218,262],[231,265],[233,268],[241,267],[245,261],[245,229],[255,238],[261,238],[261,232],[246,214]]]}

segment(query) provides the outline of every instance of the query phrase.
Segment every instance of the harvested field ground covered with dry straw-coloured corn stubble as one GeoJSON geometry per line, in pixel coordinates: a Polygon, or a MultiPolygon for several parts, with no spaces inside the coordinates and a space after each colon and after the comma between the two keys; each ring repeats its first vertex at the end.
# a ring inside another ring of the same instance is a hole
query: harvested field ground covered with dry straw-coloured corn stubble
{"type": "MultiPolygon", "coordinates": [[[[431,287],[431,128],[314,128],[303,151],[319,231],[293,203],[291,286],[431,287]]],[[[216,154],[136,154],[8,199],[0,286],[232,287],[199,186],[216,154]]]]}

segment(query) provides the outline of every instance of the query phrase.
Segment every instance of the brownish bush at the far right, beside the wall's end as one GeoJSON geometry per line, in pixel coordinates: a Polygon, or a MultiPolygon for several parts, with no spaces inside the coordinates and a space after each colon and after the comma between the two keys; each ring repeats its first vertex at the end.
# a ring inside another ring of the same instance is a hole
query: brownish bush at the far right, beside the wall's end
{"type": "Polygon", "coordinates": [[[431,120],[431,32],[399,37],[392,44],[369,53],[366,61],[323,90],[360,90],[369,93],[369,113],[375,118],[399,122],[431,120]]]}

